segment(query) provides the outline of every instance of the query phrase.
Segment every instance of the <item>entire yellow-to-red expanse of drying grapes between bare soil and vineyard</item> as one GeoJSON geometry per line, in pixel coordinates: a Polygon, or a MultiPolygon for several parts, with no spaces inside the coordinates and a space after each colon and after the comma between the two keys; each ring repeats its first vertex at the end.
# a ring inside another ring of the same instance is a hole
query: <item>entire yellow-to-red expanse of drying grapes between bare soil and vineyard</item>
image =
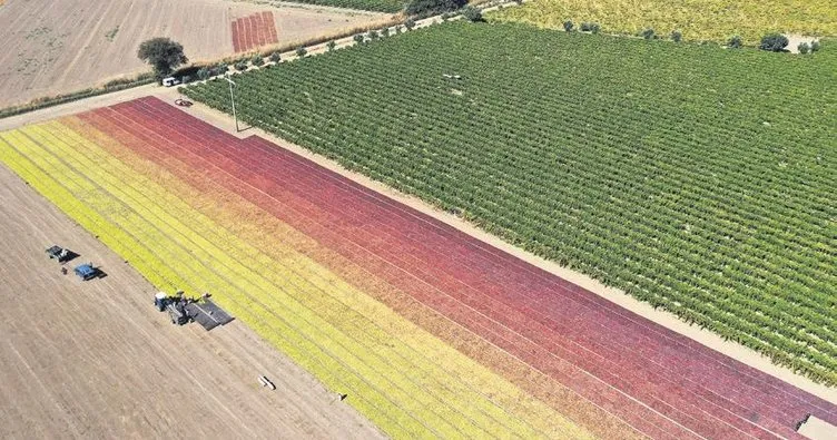
{"type": "Polygon", "coordinates": [[[808,413],[837,422],[821,399],[156,98],[0,134],[0,160],[158,289],[211,292],[394,437],[798,438],[808,413]]]}

